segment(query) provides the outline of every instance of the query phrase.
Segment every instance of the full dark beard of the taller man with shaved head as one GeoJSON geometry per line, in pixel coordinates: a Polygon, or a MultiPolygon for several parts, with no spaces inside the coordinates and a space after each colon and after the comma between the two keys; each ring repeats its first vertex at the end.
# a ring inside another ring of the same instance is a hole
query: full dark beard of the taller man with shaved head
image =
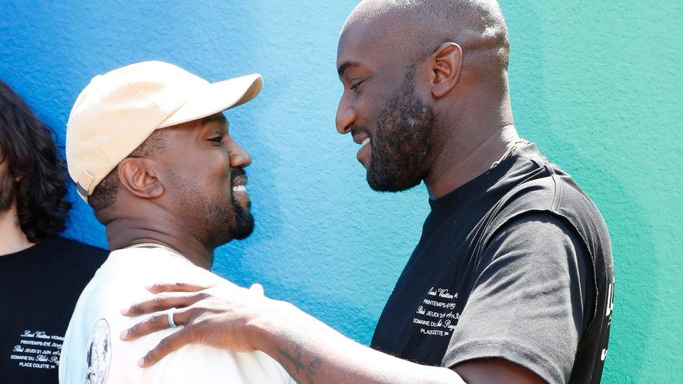
{"type": "Polygon", "coordinates": [[[379,192],[408,190],[428,173],[436,117],[416,94],[413,73],[413,68],[406,71],[402,85],[383,104],[371,136],[367,183],[379,192]]]}

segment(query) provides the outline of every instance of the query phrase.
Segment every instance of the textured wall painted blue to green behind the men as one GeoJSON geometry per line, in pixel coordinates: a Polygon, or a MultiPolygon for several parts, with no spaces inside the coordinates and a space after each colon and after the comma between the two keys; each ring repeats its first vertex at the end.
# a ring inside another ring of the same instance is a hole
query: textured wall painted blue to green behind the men
{"type": "MultiPolygon", "coordinates": [[[[604,380],[680,381],[681,3],[501,3],[516,125],[575,176],[612,234],[604,380]]],[[[428,204],[424,187],[370,191],[358,146],[335,131],[337,37],[353,6],[0,0],[0,78],[64,145],[71,105],[97,73],[148,59],[209,80],[262,73],[260,97],[227,113],[253,156],[257,229],[220,248],[215,269],[368,343],[428,204]]],[[[71,200],[66,236],[104,247],[90,208],[73,191],[71,200]]]]}

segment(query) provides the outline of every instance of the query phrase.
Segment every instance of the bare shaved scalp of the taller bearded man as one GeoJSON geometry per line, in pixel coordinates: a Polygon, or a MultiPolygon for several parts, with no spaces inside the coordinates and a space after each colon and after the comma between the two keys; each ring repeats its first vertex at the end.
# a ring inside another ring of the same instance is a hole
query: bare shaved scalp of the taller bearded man
{"type": "Polygon", "coordinates": [[[346,19],[342,36],[359,28],[375,34],[378,29],[368,29],[372,25],[381,26],[381,38],[406,60],[406,66],[452,42],[463,48],[466,70],[507,73],[509,38],[496,1],[365,0],[346,19]]]}

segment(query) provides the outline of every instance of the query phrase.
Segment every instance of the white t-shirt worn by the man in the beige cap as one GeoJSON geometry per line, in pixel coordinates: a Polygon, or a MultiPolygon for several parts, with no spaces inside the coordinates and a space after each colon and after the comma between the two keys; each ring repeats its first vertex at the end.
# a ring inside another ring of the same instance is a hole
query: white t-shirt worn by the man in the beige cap
{"type": "Polygon", "coordinates": [[[222,278],[164,248],[113,251],[80,294],[64,336],[59,383],[293,383],[272,357],[189,345],[152,367],[137,361],[178,329],[164,329],[135,341],[119,334],[149,315],[128,318],[121,310],[152,296],[145,285],[222,278]]]}

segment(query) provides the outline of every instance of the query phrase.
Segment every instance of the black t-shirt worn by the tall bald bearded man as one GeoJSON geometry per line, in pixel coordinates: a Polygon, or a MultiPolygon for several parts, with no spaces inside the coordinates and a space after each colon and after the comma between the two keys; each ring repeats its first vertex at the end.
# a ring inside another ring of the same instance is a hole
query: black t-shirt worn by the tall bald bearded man
{"type": "Polygon", "coordinates": [[[430,206],[371,346],[421,364],[498,357],[549,383],[598,383],[612,250],[574,180],[526,144],[430,206]]]}

